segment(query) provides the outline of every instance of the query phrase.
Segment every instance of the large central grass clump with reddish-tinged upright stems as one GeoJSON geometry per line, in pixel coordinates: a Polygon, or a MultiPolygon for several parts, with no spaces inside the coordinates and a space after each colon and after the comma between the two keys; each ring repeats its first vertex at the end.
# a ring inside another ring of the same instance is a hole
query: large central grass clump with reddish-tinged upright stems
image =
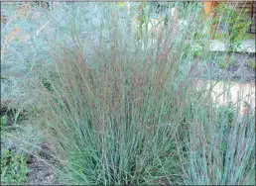
{"type": "Polygon", "coordinates": [[[117,15],[111,4],[102,25],[111,30],[101,30],[96,43],[78,44],[79,32],[71,31],[72,47],[51,52],[58,76],[45,70],[53,92],[38,83],[42,128],[64,162],[66,183],[176,184],[182,174],[173,137],[198,66],[182,68],[188,55],[181,44],[191,33],[184,30],[177,43],[170,24],[157,39],[146,30],[127,43],[137,32],[124,33],[131,19],[120,26],[117,15]]]}

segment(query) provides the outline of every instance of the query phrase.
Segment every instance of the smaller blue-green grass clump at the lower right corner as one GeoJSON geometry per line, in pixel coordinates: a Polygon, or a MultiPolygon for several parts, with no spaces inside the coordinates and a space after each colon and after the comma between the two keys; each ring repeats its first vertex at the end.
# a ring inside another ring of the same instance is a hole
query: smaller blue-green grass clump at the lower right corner
{"type": "Polygon", "coordinates": [[[178,142],[187,149],[181,150],[188,177],[185,184],[254,185],[253,113],[239,119],[230,107],[206,106],[196,110],[189,122],[189,135],[178,142]]]}

